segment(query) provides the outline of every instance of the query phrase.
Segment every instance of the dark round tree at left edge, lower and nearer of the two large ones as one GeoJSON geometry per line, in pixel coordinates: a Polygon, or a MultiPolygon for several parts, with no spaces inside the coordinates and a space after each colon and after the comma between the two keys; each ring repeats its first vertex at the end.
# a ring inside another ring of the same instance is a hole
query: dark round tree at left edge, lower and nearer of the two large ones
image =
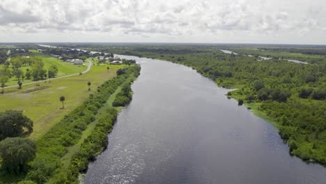
{"type": "Polygon", "coordinates": [[[26,172],[28,163],[35,158],[36,144],[31,139],[8,137],[0,142],[1,169],[9,174],[26,172]]]}

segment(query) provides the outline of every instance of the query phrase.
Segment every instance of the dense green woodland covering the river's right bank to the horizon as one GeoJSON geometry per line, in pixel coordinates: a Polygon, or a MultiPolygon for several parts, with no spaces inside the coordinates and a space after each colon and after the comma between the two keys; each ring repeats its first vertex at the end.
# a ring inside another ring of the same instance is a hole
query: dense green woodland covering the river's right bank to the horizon
{"type": "MultiPolygon", "coordinates": [[[[182,45],[180,49],[185,47],[187,45],[182,45]]],[[[290,153],[326,164],[326,64],[315,62],[323,61],[323,56],[304,56],[304,59],[311,59],[310,63],[319,63],[304,65],[279,60],[281,56],[288,58],[291,53],[286,52],[274,52],[275,59],[266,61],[257,61],[256,57],[244,54],[250,50],[263,55],[258,49],[242,48],[243,53],[239,55],[224,54],[218,48],[203,45],[189,46],[189,49],[206,51],[193,53],[179,53],[178,45],[100,46],[94,49],[180,63],[210,77],[219,86],[237,88],[228,95],[244,103],[255,103],[260,112],[271,117],[281,137],[288,142],[290,153]]]]}

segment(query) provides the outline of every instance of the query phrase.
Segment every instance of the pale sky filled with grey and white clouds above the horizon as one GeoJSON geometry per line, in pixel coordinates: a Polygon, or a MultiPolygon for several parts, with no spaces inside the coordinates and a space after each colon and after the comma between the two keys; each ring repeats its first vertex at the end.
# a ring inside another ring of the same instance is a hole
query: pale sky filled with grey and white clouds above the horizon
{"type": "Polygon", "coordinates": [[[0,42],[326,44],[326,0],[1,0],[0,42]]]}

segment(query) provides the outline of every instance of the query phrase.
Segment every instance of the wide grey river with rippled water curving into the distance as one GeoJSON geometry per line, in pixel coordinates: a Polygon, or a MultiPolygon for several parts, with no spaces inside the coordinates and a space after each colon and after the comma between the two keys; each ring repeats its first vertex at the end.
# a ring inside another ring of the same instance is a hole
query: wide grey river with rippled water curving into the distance
{"type": "Polygon", "coordinates": [[[139,59],[130,105],[84,183],[318,183],[326,168],[289,155],[277,130],[186,66],[139,59]]]}

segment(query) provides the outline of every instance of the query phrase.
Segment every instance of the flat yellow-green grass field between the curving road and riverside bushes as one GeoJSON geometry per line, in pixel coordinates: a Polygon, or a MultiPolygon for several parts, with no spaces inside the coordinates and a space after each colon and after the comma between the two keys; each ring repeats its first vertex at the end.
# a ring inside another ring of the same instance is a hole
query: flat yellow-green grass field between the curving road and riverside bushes
{"type": "Polygon", "coordinates": [[[30,84],[23,89],[5,89],[0,95],[0,112],[7,109],[24,111],[24,114],[34,121],[31,139],[38,139],[47,130],[59,122],[63,116],[71,112],[88,98],[88,95],[97,90],[102,82],[116,76],[116,70],[123,66],[92,66],[91,71],[84,75],[76,75],[57,79],[51,83],[40,82],[40,86],[30,84]],[[92,91],[88,91],[87,82],[91,82],[92,91]],[[65,109],[61,109],[59,101],[65,96],[65,109]]]}

